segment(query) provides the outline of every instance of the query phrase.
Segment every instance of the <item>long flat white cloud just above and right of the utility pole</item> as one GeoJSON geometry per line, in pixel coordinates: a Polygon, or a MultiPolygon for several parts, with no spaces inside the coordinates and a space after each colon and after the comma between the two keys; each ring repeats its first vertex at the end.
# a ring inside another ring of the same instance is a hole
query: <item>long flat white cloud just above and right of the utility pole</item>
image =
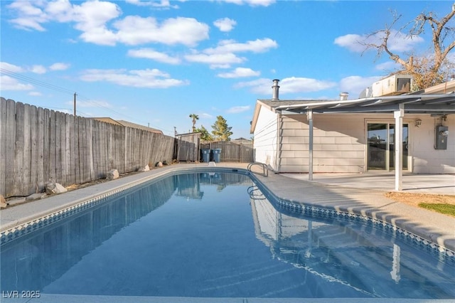
{"type": "Polygon", "coordinates": [[[146,70],[85,70],[80,77],[83,81],[104,81],[130,87],[168,88],[188,85],[188,80],[170,78],[167,73],[157,69],[146,70]]]}

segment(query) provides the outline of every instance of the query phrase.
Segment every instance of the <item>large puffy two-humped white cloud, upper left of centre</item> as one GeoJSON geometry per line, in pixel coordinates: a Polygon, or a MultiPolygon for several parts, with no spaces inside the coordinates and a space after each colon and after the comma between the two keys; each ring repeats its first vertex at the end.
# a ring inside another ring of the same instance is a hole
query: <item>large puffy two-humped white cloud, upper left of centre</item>
{"type": "Polygon", "coordinates": [[[127,16],[114,23],[118,41],[128,45],[142,43],[183,44],[196,46],[208,39],[209,27],[195,18],[168,18],[161,24],[155,18],[127,16]]]}

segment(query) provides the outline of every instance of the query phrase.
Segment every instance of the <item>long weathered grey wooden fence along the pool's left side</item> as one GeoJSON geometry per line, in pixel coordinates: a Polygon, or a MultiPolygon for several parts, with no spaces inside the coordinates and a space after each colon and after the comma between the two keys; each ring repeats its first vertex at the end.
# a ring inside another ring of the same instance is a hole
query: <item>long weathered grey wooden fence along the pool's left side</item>
{"type": "Polygon", "coordinates": [[[27,196],[173,159],[174,138],[0,100],[0,194],[27,196]]]}

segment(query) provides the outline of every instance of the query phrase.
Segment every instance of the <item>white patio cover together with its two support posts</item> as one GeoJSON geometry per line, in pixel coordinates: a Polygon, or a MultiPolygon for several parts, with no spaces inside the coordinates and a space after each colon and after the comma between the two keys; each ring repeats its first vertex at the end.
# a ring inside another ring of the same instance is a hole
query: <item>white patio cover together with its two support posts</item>
{"type": "MultiPolygon", "coordinates": [[[[455,92],[448,94],[408,94],[365,97],[354,100],[257,100],[274,112],[284,115],[306,114],[309,120],[309,180],[313,179],[313,114],[390,113],[394,115],[395,142],[402,142],[402,119],[405,114],[443,116],[455,114],[455,92]]],[[[252,127],[259,111],[255,110],[252,127]]],[[[402,190],[402,145],[395,144],[395,190],[402,190]]]]}

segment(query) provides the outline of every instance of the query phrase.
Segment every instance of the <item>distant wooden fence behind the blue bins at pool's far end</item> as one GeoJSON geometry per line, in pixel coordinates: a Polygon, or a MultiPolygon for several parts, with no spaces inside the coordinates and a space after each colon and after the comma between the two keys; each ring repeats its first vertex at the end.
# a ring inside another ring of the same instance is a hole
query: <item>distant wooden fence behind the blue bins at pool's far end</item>
{"type": "MultiPolygon", "coordinates": [[[[222,162],[253,162],[255,149],[250,144],[239,144],[230,141],[208,142],[200,144],[200,149],[221,149],[220,161],[222,162]]],[[[210,152],[210,158],[213,158],[210,152]]],[[[213,159],[212,159],[213,160],[213,159]]]]}

